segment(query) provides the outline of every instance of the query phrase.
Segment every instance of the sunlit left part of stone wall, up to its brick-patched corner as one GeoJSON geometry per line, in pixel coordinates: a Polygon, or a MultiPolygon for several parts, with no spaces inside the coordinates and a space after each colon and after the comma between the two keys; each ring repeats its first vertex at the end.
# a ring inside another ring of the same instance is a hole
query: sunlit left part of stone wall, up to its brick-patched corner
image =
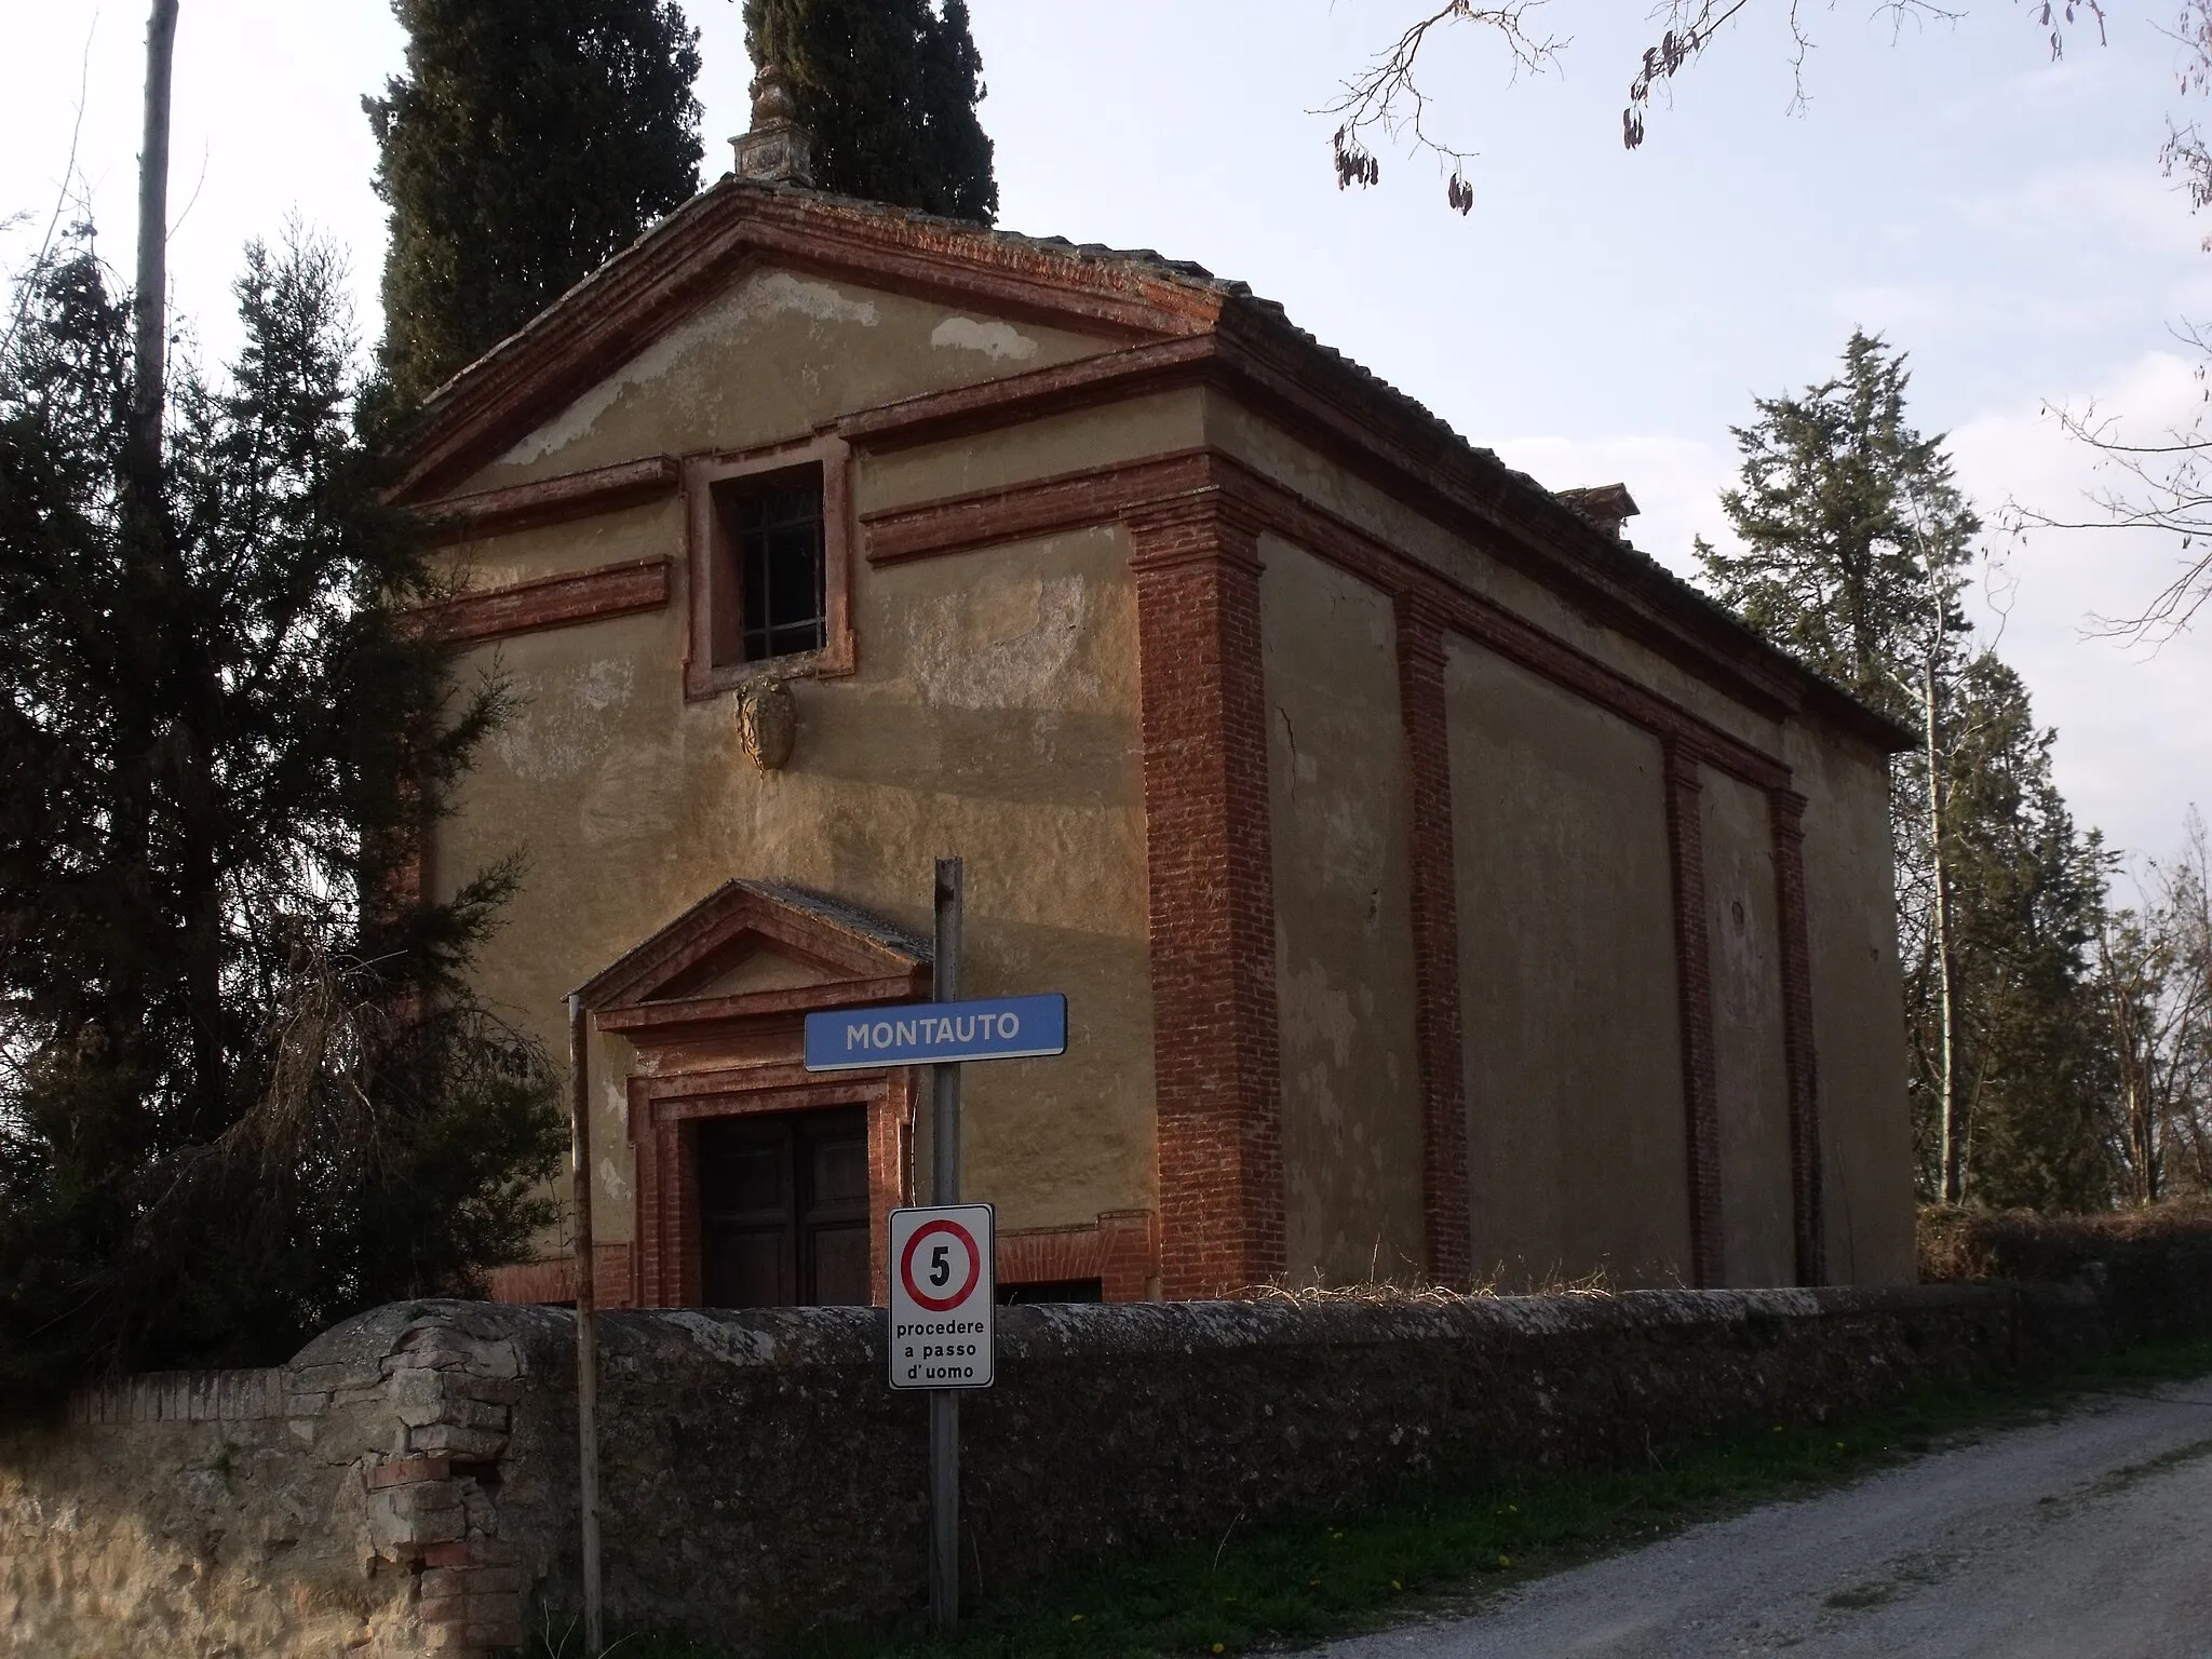
{"type": "Polygon", "coordinates": [[[549,1360],[526,1380],[518,1336],[476,1303],[380,1307],[283,1369],[128,1378],[0,1429],[0,1655],[520,1646],[493,1495],[549,1360]]]}

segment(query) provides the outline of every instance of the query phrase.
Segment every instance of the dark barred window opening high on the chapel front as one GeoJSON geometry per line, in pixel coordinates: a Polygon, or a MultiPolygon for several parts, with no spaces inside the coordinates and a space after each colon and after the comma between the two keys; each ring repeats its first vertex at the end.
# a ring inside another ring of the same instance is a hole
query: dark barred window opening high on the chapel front
{"type": "Polygon", "coordinates": [[[717,584],[714,661],[821,650],[830,637],[821,467],[714,484],[714,515],[734,577],[717,584]]]}

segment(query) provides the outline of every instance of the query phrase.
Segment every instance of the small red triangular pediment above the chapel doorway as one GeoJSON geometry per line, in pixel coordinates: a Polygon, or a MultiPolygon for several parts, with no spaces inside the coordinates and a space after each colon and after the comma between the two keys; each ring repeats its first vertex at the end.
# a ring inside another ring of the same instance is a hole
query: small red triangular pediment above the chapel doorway
{"type": "Polygon", "coordinates": [[[743,1018],[929,989],[929,942],[889,918],[772,880],[732,880],[677,916],[577,995],[606,1029],[743,1018]]]}

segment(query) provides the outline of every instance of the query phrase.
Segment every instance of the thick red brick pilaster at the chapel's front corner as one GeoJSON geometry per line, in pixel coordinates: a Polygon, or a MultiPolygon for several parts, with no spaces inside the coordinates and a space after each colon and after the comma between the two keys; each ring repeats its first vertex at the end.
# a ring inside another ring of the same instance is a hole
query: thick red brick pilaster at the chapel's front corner
{"type": "Polygon", "coordinates": [[[1137,577],[1159,1099],[1172,1298],[1285,1265],[1259,529],[1219,489],[1128,515],[1137,577]]]}

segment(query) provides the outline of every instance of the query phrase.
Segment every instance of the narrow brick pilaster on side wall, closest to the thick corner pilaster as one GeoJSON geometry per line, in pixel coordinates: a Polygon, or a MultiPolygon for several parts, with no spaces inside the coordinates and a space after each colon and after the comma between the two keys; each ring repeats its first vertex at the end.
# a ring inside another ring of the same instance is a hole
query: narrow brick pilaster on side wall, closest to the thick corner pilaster
{"type": "Polygon", "coordinates": [[[1451,838],[1444,630],[1409,595],[1398,597],[1398,708],[1411,792],[1413,1040],[1420,1057],[1420,1199],[1429,1232],[1429,1276],[1440,1285],[1464,1287],[1473,1274],[1473,1234],[1467,1210],[1460,878],[1451,838]]]}

